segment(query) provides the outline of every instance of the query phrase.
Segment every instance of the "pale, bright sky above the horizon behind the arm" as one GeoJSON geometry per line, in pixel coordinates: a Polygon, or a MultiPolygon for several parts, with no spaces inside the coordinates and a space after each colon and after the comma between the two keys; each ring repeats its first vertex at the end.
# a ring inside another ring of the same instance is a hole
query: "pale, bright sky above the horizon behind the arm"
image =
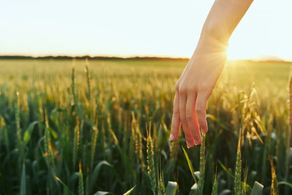
{"type": "MultiPolygon", "coordinates": [[[[189,58],[214,0],[0,0],[0,55],[189,58]]],[[[292,0],[254,0],[231,59],[292,60],[292,0]]]]}

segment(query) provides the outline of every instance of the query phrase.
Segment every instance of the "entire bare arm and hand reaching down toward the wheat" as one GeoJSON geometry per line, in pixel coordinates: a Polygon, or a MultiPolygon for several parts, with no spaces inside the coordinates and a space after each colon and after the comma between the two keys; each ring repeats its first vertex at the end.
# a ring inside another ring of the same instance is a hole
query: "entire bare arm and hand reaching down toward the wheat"
{"type": "Polygon", "coordinates": [[[178,138],[182,125],[187,147],[201,144],[201,133],[208,132],[207,101],[226,62],[229,38],[252,2],[215,0],[195,52],[175,84],[170,141],[178,138]]]}

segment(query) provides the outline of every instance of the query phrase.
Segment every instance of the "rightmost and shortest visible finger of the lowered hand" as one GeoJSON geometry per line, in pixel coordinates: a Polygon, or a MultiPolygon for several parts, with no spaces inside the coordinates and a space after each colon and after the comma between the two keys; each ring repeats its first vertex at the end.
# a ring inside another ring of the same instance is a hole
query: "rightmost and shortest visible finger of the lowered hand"
{"type": "Polygon", "coordinates": [[[200,125],[201,132],[203,134],[208,132],[208,125],[207,125],[207,120],[206,120],[207,100],[208,100],[208,95],[206,93],[202,93],[202,92],[198,93],[195,110],[197,114],[198,123],[200,125]]]}

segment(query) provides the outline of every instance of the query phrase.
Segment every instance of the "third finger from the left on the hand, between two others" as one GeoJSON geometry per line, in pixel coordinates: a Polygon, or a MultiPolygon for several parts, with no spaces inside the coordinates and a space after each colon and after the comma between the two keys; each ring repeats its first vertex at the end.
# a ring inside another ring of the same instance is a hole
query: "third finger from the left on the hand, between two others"
{"type": "Polygon", "coordinates": [[[196,106],[196,94],[194,93],[190,93],[187,96],[187,100],[186,100],[186,119],[188,121],[188,125],[190,127],[190,130],[192,132],[193,137],[195,138],[195,144],[196,145],[200,145],[202,142],[202,137],[201,137],[201,133],[200,133],[200,127],[199,127],[199,123],[197,120],[197,115],[195,112],[195,106],[196,106]]]}

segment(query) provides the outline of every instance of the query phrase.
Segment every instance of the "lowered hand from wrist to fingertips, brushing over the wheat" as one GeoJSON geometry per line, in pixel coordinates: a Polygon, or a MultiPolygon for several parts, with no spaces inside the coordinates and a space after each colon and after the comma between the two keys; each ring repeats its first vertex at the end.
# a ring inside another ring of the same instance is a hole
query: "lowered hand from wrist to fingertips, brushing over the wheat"
{"type": "Polygon", "coordinates": [[[216,40],[199,43],[175,85],[169,140],[176,140],[181,124],[187,147],[201,144],[207,133],[206,106],[227,59],[226,45],[216,40]]]}

